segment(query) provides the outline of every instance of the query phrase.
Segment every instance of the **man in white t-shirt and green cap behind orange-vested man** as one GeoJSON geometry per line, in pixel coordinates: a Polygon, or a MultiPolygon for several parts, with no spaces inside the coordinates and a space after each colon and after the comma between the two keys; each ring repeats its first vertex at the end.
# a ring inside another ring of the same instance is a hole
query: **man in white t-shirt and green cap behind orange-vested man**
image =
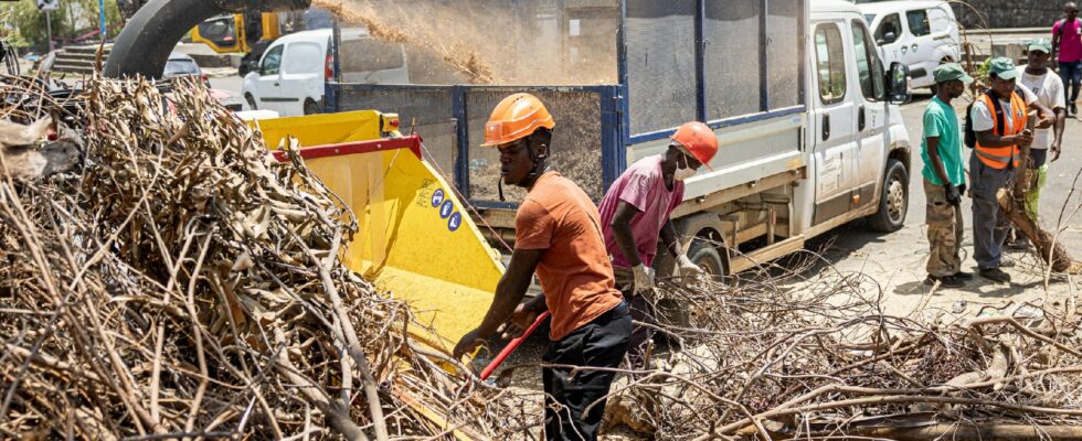
{"type": "MultiPolygon", "coordinates": [[[[1038,201],[1041,189],[1048,179],[1048,162],[1060,158],[1060,144],[1063,142],[1063,126],[1067,123],[1067,98],[1063,96],[1063,79],[1048,68],[1051,60],[1052,42],[1046,37],[1037,37],[1029,42],[1028,64],[1018,66],[1019,86],[1030,89],[1037,95],[1038,103],[1056,112],[1051,129],[1039,129],[1033,132],[1033,143],[1030,144],[1029,157],[1032,161],[1027,164],[1032,172],[1032,183],[1026,194],[1026,212],[1035,219],[1038,218],[1038,201]]],[[[1016,234],[1018,232],[1016,230],[1016,234]]],[[[1029,247],[1026,236],[1018,236],[1012,244],[1015,248],[1029,247]]]]}

